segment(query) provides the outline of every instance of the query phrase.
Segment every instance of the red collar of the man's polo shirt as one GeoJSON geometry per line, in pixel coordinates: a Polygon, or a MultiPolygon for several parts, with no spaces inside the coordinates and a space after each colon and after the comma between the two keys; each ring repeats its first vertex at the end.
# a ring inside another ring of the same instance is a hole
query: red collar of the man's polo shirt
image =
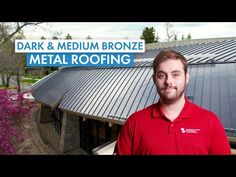
{"type": "MultiPolygon", "coordinates": [[[[187,119],[192,117],[192,107],[193,103],[191,103],[189,99],[185,97],[185,104],[182,111],[180,112],[180,118],[187,119]]],[[[164,113],[160,109],[160,99],[159,99],[159,101],[155,103],[154,106],[152,107],[152,117],[162,118],[164,116],[165,116],[164,113]]]]}

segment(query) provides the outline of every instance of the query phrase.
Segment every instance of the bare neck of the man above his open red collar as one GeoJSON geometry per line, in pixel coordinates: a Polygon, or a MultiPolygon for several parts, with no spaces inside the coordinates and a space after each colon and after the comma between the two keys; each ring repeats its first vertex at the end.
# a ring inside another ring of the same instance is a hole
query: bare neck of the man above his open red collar
{"type": "Polygon", "coordinates": [[[185,104],[185,97],[182,96],[179,100],[172,104],[165,104],[160,100],[161,109],[170,121],[174,121],[182,111],[185,104]]]}

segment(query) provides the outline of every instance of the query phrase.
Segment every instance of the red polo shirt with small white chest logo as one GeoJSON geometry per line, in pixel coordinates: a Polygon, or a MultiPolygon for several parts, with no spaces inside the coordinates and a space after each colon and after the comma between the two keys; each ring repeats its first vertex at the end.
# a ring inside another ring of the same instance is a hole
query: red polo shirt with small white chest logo
{"type": "Polygon", "coordinates": [[[231,149],[218,117],[186,99],[173,122],[159,102],[132,114],[120,131],[114,154],[223,155],[231,154],[231,149]]]}

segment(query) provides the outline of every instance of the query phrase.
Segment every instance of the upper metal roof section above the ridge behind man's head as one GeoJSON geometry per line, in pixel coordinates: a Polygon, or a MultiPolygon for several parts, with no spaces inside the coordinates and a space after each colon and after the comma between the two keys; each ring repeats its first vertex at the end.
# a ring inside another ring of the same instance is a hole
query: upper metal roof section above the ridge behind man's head
{"type": "MultiPolygon", "coordinates": [[[[162,48],[163,49],[163,48],[162,48]]],[[[162,49],[135,54],[135,58],[154,58],[162,49]]],[[[181,52],[189,64],[236,62],[236,39],[169,47],[181,52]]]]}

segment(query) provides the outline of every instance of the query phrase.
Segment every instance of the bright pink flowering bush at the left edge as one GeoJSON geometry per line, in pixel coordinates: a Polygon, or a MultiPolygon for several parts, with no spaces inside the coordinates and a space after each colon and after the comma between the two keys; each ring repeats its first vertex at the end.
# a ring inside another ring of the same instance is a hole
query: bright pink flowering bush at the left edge
{"type": "Polygon", "coordinates": [[[30,118],[34,107],[34,102],[25,99],[24,94],[0,89],[0,154],[15,154],[15,145],[24,140],[21,122],[30,118]]]}

